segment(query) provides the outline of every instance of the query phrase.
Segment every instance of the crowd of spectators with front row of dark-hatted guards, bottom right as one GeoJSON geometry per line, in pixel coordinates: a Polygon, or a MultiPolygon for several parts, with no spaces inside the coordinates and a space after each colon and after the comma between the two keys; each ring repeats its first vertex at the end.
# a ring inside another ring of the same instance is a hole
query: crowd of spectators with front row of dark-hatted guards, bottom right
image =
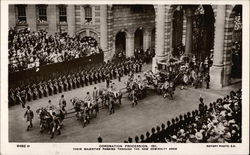
{"type": "Polygon", "coordinates": [[[208,105],[200,98],[199,108],[167,121],[125,143],[240,143],[242,141],[242,91],[218,98],[208,105]]]}

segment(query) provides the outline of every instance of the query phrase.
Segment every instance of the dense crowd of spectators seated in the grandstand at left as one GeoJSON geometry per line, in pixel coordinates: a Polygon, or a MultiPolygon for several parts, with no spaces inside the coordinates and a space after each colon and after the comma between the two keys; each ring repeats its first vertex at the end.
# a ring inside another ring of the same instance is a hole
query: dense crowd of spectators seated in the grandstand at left
{"type": "Polygon", "coordinates": [[[9,29],[9,72],[39,67],[98,54],[102,50],[92,37],[70,37],[67,33],[49,35],[45,30],[9,29]]]}

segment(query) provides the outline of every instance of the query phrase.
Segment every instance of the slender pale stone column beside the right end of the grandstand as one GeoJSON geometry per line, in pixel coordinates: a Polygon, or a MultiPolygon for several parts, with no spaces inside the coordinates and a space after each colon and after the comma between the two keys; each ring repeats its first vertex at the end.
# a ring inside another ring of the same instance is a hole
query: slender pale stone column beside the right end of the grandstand
{"type": "Polygon", "coordinates": [[[101,5],[100,8],[100,45],[101,49],[106,52],[108,50],[108,10],[107,5],[101,5]]]}

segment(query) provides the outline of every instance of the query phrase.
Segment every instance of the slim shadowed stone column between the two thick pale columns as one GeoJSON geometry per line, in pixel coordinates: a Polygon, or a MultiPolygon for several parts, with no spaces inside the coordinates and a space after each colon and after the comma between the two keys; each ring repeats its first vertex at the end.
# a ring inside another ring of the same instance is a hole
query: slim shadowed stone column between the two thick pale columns
{"type": "Polygon", "coordinates": [[[186,41],[185,41],[185,54],[190,54],[192,52],[192,45],[193,45],[193,9],[186,8],[186,41]]]}

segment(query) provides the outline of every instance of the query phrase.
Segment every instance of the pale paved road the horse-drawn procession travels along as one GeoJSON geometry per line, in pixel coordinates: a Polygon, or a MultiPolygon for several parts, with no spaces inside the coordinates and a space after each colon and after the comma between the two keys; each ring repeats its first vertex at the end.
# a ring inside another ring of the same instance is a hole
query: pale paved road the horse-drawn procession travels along
{"type": "MultiPolygon", "coordinates": [[[[143,70],[150,69],[144,66],[143,70]]],[[[122,78],[122,82],[114,80],[118,88],[123,88],[127,77],[122,78]]],[[[96,85],[95,85],[96,86],[96,85]]],[[[105,83],[97,84],[99,88],[105,87],[105,83]]],[[[83,98],[87,91],[92,91],[94,85],[64,92],[67,100],[67,108],[72,108],[69,100],[72,97],[83,98]]],[[[241,87],[241,83],[225,87],[221,90],[211,89],[176,89],[174,100],[164,99],[155,92],[150,92],[146,98],[139,101],[138,106],[132,108],[131,102],[124,97],[122,105],[116,107],[115,114],[109,115],[107,109],[101,109],[97,118],[91,120],[90,124],[82,128],[75,117],[64,121],[62,135],[50,139],[46,133],[39,133],[39,119],[35,116],[34,128],[26,132],[26,123],[23,119],[25,109],[21,106],[9,108],[9,141],[10,142],[97,142],[97,137],[101,134],[104,142],[123,142],[128,136],[136,136],[151,130],[156,125],[161,125],[173,117],[197,109],[199,96],[202,95],[206,103],[214,101],[216,98],[227,95],[231,90],[241,87]]],[[[39,107],[46,106],[48,100],[52,100],[54,105],[58,105],[61,94],[47,98],[42,98],[28,103],[33,111],[39,107]]],[[[125,95],[127,96],[127,95],[125,95]]]]}

